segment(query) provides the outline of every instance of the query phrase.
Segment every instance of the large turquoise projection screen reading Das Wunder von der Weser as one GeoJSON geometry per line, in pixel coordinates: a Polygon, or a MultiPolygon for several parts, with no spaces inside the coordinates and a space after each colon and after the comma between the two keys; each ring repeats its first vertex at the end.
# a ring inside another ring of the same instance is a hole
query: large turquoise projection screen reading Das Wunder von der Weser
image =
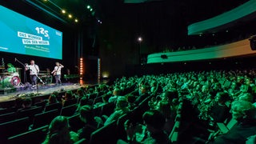
{"type": "Polygon", "coordinates": [[[62,32],[0,6],[0,51],[62,59],[62,32]]]}

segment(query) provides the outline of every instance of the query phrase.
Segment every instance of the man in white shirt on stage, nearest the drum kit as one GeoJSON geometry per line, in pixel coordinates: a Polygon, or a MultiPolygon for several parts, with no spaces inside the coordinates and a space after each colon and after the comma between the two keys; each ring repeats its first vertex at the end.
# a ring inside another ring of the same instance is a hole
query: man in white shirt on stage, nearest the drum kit
{"type": "Polygon", "coordinates": [[[38,81],[38,74],[39,74],[39,67],[38,65],[34,64],[34,60],[30,61],[30,65],[28,65],[27,63],[25,64],[26,66],[26,70],[30,70],[30,80],[32,82],[32,86],[36,86],[37,85],[37,81],[38,81]]]}

